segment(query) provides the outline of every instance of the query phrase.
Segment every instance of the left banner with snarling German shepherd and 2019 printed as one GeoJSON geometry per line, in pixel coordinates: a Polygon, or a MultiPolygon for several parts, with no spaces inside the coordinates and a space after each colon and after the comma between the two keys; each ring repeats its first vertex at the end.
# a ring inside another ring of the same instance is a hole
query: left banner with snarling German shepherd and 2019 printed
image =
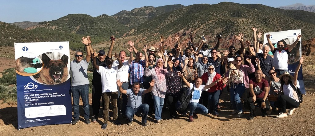
{"type": "Polygon", "coordinates": [[[72,122],[69,42],[15,43],[18,129],[72,122]]]}

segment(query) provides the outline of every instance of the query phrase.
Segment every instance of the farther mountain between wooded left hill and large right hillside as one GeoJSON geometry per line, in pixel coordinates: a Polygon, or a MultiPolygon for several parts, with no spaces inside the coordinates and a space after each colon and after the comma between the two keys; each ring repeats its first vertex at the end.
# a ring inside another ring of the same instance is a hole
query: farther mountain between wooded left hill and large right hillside
{"type": "Polygon", "coordinates": [[[141,8],[135,8],[131,11],[122,10],[114,15],[114,17],[118,22],[124,24],[127,27],[136,27],[147,20],[150,20],[158,15],[163,13],[168,13],[173,10],[183,8],[184,5],[166,5],[161,7],[152,7],[152,6],[145,6],[141,8]]]}

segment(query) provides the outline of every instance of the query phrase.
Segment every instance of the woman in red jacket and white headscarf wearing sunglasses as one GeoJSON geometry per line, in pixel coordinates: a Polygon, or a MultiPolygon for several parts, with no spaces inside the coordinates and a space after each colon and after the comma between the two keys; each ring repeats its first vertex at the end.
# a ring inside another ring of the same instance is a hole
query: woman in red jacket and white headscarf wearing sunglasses
{"type": "MultiPolygon", "coordinates": [[[[201,77],[202,81],[209,85],[216,80],[220,79],[221,75],[215,72],[215,66],[209,65],[208,72],[204,73],[201,77]]],[[[220,93],[225,87],[225,84],[222,84],[222,81],[216,83],[214,86],[210,87],[207,91],[208,94],[208,106],[209,113],[214,112],[215,116],[218,116],[218,105],[220,100],[220,93]]]]}

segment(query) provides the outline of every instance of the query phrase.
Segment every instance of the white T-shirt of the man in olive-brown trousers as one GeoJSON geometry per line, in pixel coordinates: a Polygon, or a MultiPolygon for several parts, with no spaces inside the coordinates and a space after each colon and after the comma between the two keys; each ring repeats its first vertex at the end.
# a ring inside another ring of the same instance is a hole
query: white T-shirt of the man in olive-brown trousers
{"type": "Polygon", "coordinates": [[[102,77],[102,92],[118,92],[116,84],[117,70],[117,66],[111,69],[100,66],[100,69],[96,70],[102,77]]]}

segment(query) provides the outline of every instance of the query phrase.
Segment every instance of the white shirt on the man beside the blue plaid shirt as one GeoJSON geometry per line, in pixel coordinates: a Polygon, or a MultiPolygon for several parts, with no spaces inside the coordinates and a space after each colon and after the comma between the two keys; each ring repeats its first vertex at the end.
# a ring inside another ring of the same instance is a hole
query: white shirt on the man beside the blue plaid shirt
{"type": "MultiPolygon", "coordinates": [[[[118,65],[119,65],[118,60],[115,60],[112,66],[118,65]]],[[[123,61],[123,66],[117,71],[116,80],[120,79],[121,82],[128,82],[128,69],[129,63],[128,60],[125,60],[123,61]]]]}

